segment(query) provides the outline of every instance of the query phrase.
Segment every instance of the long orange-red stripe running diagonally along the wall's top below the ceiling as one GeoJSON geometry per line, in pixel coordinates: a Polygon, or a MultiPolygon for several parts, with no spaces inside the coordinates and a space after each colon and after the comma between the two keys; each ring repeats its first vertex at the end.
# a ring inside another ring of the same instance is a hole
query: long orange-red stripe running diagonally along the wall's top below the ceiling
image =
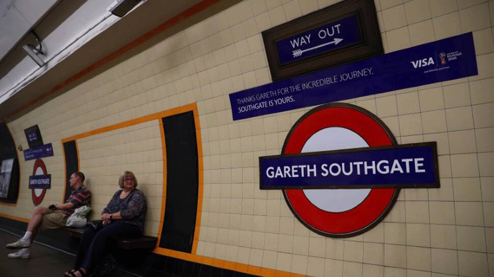
{"type": "Polygon", "coordinates": [[[86,69],[80,71],[79,73],[73,75],[72,77],[66,79],[62,83],[52,87],[50,90],[46,91],[46,93],[41,94],[38,96],[36,99],[31,100],[25,105],[22,105],[20,108],[16,109],[12,113],[8,114],[6,118],[11,118],[14,115],[18,114],[19,112],[35,105],[36,103],[40,102],[41,100],[45,99],[46,97],[50,96],[51,94],[55,93],[61,88],[64,88],[65,86],[73,83],[75,80],[87,75],[88,73],[96,70],[97,68],[107,64],[109,61],[113,60],[114,58],[124,54],[125,52],[143,44],[144,42],[148,41],[149,39],[159,35],[160,33],[164,32],[165,30],[173,27],[174,25],[180,23],[181,21],[205,10],[206,8],[211,7],[212,5],[218,3],[219,0],[204,0],[187,10],[183,11],[182,13],[172,17],[171,19],[165,21],[164,23],[158,25],[154,29],[150,30],[148,33],[142,35],[139,38],[134,39],[133,41],[129,42],[128,44],[124,45],[122,48],[118,49],[117,51],[107,55],[106,57],[96,61],[96,63],[92,64],[91,66],[87,67],[86,69]]]}

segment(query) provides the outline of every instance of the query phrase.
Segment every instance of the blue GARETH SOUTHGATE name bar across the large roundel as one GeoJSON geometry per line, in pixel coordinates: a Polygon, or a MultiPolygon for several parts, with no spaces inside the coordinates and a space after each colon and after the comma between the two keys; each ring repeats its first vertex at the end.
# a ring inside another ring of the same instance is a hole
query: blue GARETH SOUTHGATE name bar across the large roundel
{"type": "Polygon", "coordinates": [[[439,188],[435,142],[259,158],[260,189],[439,188]]]}

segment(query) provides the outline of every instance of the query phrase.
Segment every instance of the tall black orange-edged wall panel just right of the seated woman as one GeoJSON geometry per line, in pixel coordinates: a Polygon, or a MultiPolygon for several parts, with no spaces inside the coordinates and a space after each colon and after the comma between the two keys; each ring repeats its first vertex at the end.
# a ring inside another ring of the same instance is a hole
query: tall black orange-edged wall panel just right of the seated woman
{"type": "Polygon", "coordinates": [[[163,117],[167,199],[159,247],[190,253],[196,227],[199,160],[193,112],[163,117]]]}

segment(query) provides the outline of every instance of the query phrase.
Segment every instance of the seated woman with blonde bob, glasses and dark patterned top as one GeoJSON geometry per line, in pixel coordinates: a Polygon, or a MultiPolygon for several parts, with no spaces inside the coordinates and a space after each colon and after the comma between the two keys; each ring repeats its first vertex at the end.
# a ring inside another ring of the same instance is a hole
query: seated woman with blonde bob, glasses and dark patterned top
{"type": "Polygon", "coordinates": [[[106,241],[109,238],[139,237],[143,233],[146,214],[146,198],[136,189],[137,179],[134,173],[125,171],[118,181],[122,190],[118,190],[112,200],[101,212],[103,228],[92,227],[84,230],[79,250],[75,258],[74,269],[65,272],[67,277],[84,277],[91,273],[97,263],[108,252],[106,241]]]}

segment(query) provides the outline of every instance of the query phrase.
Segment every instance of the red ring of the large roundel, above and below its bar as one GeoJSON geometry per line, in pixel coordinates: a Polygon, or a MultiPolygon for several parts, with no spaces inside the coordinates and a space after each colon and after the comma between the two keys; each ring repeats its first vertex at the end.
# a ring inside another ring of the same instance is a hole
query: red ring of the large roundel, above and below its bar
{"type": "MultiPolygon", "coordinates": [[[[292,127],[282,154],[300,153],[313,134],[329,127],[349,129],[359,134],[369,146],[396,144],[391,132],[368,111],[349,104],[327,104],[307,112],[292,127]]],[[[288,206],[304,225],[326,236],[348,237],[365,232],[386,216],[399,189],[372,189],[362,203],[343,212],[318,208],[302,190],[284,190],[283,193],[288,206]]]]}

